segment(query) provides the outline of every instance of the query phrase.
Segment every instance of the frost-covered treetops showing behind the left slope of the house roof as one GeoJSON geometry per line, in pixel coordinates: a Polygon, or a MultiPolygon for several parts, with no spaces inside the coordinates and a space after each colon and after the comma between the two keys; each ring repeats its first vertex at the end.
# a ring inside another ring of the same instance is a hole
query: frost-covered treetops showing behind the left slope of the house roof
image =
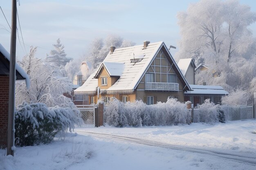
{"type": "Polygon", "coordinates": [[[106,58],[110,51],[110,46],[127,47],[135,45],[134,42],[124,40],[117,35],[108,35],[105,39],[95,38],[89,46],[88,54],[85,54],[85,60],[92,62],[93,68],[97,68],[99,64],[106,58]]]}

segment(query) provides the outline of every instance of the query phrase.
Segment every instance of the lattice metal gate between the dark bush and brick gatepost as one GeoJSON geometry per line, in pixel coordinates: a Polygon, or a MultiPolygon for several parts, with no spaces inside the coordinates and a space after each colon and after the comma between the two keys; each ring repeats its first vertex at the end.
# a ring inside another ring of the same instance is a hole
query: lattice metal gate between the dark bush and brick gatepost
{"type": "Polygon", "coordinates": [[[95,127],[95,108],[97,105],[76,105],[83,119],[82,126],[95,127]]]}

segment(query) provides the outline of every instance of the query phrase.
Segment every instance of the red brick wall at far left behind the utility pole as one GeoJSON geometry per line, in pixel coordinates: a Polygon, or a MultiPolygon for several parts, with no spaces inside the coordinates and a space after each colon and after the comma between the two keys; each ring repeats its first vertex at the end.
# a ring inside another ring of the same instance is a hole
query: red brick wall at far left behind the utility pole
{"type": "Polygon", "coordinates": [[[0,76],[0,148],[7,145],[9,76],[0,76]]]}

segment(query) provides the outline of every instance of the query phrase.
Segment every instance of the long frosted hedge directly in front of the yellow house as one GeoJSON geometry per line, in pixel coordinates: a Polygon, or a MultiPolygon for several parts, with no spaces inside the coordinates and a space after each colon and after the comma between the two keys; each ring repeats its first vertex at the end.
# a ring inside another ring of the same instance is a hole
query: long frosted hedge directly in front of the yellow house
{"type": "Polygon", "coordinates": [[[187,109],[187,102],[180,103],[177,99],[146,105],[141,100],[124,104],[111,98],[104,115],[105,123],[112,126],[164,126],[187,124],[191,120],[191,110],[187,109]]]}

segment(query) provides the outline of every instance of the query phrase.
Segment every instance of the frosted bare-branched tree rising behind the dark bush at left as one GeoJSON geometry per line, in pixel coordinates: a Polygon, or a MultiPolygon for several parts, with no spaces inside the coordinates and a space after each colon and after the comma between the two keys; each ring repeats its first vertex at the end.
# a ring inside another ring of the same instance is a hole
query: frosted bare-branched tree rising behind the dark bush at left
{"type": "Polygon", "coordinates": [[[72,91],[72,83],[67,77],[63,77],[57,66],[45,64],[34,57],[36,47],[32,47],[28,55],[18,62],[29,75],[31,85],[27,90],[23,82],[16,84],[16,105],[23,101],[29,103],[44,103],[48,107],[60,106],[75,108],[71,99],[63,93],[72,91]]]}

